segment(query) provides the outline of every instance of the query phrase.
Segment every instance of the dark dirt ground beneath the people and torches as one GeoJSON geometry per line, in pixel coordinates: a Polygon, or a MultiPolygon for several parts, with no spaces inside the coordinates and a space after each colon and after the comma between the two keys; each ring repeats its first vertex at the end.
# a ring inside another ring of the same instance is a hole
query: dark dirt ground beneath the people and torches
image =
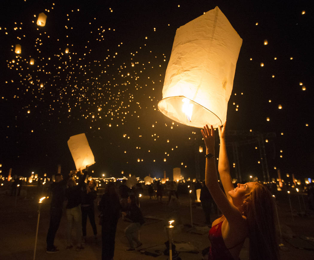
{"type": "MultiPolygon", "coordinates": [[[[43,190],[39,190],[36,186],[22,187],[24,192],[21,192],[20,196],[9,196],[8,185],[0,187],[0,260],[29,260],[34,257],[35,246],[35,233],[38,218],[38,198],[41,196],[43,190]],[[25,192],[26,191],[26,192],[25,192]],[[7,193],[7,194],[6,194],[7,193]],[[15,206],[16,199],[16,206],[15,206]]],[[[99,194],[101,190],[99,191],[99,194]]],[[[314,236],[314,218],[310,215],[299,216],[296,213],[300,210],[297,197],[292,196],[292,207],[294,209],[294,220],[292,220],[289,200],[285,194],[279,194],[278,196],[278,211],[280,223],[283,226],[283,233],[293,233],[296,237],[313,237],[314,236]],[[290,228],[290,229],[289,229],[290,228]]],[[[145,225],[142,226],[140,231],[140,240],[143,246],[142,250],[154,252],[163,252],[165,249],[165,241],[168,240],[165,231],[166,221],[169,216],[169,208],[166,207],[166,201],[168,197],[163,197],[163,202],[160,203],[156,198],[149,199],[149,196],[144,193],[141,198],[141,209],[144,216],[153,216],[156,219],[147,218],[145,225]],[[162,219],[162,220],[159,220],[162,219]]],[[[179,194],[180,209],[179,216],[183,225],[177,225],[174,223],[175,229],[173,234],[173,240],[175,244],[187,243],[185,245],[194,248],[192,252],[180,252],[179,256],[182,260],[196,260],[202,259],[202,250],[209,246],[208,241],[208,229],[203,234],[189,233],[188,227],[182,229],[184,225],[191,224],[190,217],[190,201],[188,194],[179,194]],[[198,253],[197,253],[198,252],[198,253]]],[[[66,217],[65,210],[61,220],[60,227],[57,231],[55,245],[60,249],[55,254],[46,253],[46,235],[49,227],[49,207],[50,199],[44,200],[41,204],[38,241],[36,249],[35,259],[70,259],[76,260],[89,259],[100,260],[101,259],[101,226],[97,225],[98,230],[98,242],[95,243],[93,238],[93,232],[89,223],[87,222],[87,242],[84,250],[77,252],[75,249],[66,250],[66,217]]],[[[97,211],[97,210],[96,210],[97,211]]],[[[313,213],[312,213],[313,216],[313,213]]],[[[212,210],[211,219],[214,220],[217,217],[214,208],[212,210]]],[[[199,204],[194,203],[192,205],[192,218],[193,226],[204,226],[205,218],[202,208],[199,204]]],[[[97,222],[97,220],[96,220],[97,222]]],[[[165,256],[163,253],[158,257],[145,255],[138,251],[126,252],[128,247],[127,239],[124,235],[124,229],[128,226],[128,222],[119,219],[116,231],[115,242],[115,260],[138,260],[138,259],[169,259],[169,256],[165,256]]],[[[304,240],[302,240],[304,241],[304,240]]],[[[292,259],[307,259],[313,260],[314,254],[311,250],[297,249],[290,245],[286,240],[282,240],[284,247],[281,247],[280,254],[283,260],[292,259]]],[[[291,242],[291,241],[290,241],[291,242]]],[[[307,242],[304,242],[307,244],[307,242]]],[[[310,243],[310,242],[309,242],[310,243]]],[[[311,242],[312,245],[313,242],[311,242]]],[[[300,247],[300,245],[299,245],[300,247]]],[[[183,249],[182,249],[183,250],[183,249]]],[[[248,260],[248,241],[245,242],[244,247],[240,254],[241,260],[248,260]]]]}

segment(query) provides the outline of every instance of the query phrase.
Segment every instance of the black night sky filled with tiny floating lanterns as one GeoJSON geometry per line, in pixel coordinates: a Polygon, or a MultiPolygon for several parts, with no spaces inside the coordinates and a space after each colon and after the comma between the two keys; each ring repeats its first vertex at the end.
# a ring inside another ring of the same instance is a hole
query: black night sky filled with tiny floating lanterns
{"type": "MultiPolygon", "coordinates": [[[[67,141],[85,133],[96,177],[158,178],[165,170],[172,178],[172,168],[181,167],[183,177],[194,178],[199,160],[204,178],[200,129],[165,117],[157,103],[176,29],[218,6],[243,39],[227,112],[227,129],[242,133],[229,136],[242,142],[236,163],[242,179],[263,179],[260,146],[243,133],[270,136],[264,138],[270,177],[278,169],[313,177],[313,6],[265,2],[6,2],[0,11],[2,174],[12,168],[25,177],[51,176],[58,164],[66,173],[75,168],[67,141]],[[41,12],[44,27],[36,25],[41,12]]],[[[234,177],[236,158],[227,148],[234,177]]]]}

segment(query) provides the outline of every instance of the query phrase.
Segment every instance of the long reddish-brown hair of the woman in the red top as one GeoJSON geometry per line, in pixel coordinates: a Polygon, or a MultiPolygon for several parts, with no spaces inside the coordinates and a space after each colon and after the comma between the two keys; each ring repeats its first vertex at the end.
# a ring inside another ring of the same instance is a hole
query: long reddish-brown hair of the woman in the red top
{"type": "Polygon", "coordinates": [[[275,232],[274,202],[261,183],[255,183],[245,200],[249,227],[250,260],[280,259],[275,232]]]}

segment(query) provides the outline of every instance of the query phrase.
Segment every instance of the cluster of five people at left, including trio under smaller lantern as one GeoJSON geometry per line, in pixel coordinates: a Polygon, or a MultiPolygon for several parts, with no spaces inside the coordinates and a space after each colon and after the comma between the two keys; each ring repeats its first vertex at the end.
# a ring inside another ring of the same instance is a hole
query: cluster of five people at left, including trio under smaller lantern
{"type": "MultiPolygon", "coordinates": [[[[76,251],[84,249],[86,243],[87,217],[94,233],[94,240],[97,242],[97,227],[95,222],[94,200],[97,198],[95,180],[88,180],[88,167],[85,171],[71,171],[66,178],[61,173],[55,175],[55,181],[51,183],[52,194],[50,207],[50,223],[47,233],[47,253],[59,251],[54,245],[54,239],[62,218],[63,202],[66,199],[67,218],[67,246],[71,249],[75,245],[76,251]],[[72,232],[75,231],[73,239],[72,232]]],[[[139,183],[138,183],[139,184],[139,183]]],[[[124,179],[116,191],[116,185],[108,182],[104,194],[98,202],[99,224],[101,225],[102,239],[102,260],[113,259],[115,248],[116,226],[118,219],[130,222],[125,229],[125,235],[129,241],[126,251],[134,251],[142,246],[139,241],[138,231],[144,224],[142,211],[139,208],[139,197],[143,194],[143,188],[139,185],[129,188],[124,179]]]]}

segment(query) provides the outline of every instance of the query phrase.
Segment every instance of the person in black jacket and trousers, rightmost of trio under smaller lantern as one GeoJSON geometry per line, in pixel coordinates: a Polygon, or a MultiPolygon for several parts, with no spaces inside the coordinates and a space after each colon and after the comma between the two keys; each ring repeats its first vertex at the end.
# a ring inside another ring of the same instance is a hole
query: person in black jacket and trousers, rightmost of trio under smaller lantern
{"type": "Polygon", "coordinates": [[[95,190],[95,180],[90,180],[87,185],[83,185],[82,191],[82,232],[83,232],[83,242],[86,242],[86,223],[87,216],[89,217],[90,225],[93,228],[94,239],[97,241],[97,228],[95,223],[95,209],[94,200],[97,197],[97,191],[95,190]]]}

